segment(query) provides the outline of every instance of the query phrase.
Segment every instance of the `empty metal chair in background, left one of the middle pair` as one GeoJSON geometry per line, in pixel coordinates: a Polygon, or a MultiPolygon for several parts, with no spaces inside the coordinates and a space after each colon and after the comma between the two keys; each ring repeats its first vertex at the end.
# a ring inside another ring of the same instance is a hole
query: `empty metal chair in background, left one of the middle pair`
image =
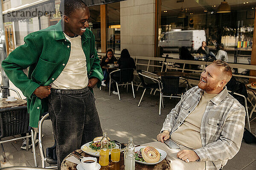
{"type": "MultiPolygon", "coordinates": [[[[161,89],[161,85],[160,85],[161,82],[160,82],[159,79],[153,78],[153,77],[158,77],[156,74],[153,74],[153,73],[150,73],[150,72],[144,71],[144,70],[137,70],[137,73],[138,73],[138,75],[139,75],[139,77],[140,77],[141,84],[142,84],[142,86],[143,86],[143,88],[144,88],[143,94],[142,94],[142,96],[140,97],[140,102],[141,102],[142,99],[143,99],[143,96],[144,96],[144,94],[145,94],[145,91],[146,91],[147,89],[161,89]],[[153,80],[153,81],[155,81],[155,82],[157,82],[157,83],[148,83],[148,84],[146,84],[146,83],[145,83],[145,80],[144,80],[144,77],[145,77],[145,78],[148,78],[148,79],[151,79],[151,80],[153,80]]],[[[138,104],[138,107],[140,107],[140,102],[139,102],[139,104],[138,104]]]]}

